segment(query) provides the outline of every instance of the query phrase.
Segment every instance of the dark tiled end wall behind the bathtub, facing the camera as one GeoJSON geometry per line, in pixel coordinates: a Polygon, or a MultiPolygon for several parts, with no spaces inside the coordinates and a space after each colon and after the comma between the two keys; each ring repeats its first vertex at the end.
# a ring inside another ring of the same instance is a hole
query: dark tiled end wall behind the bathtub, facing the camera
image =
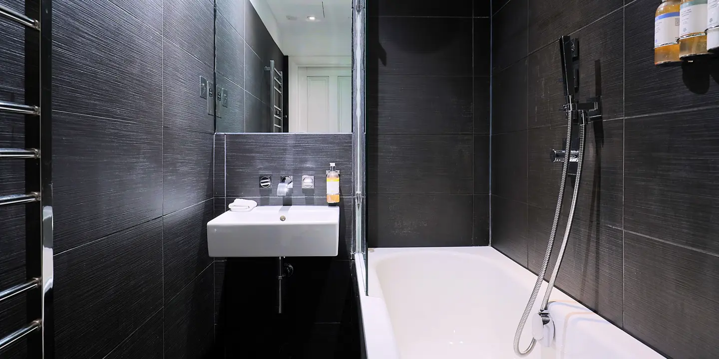
{"type": "Polygon", "coordinates": [[[367,5],[367,246],[486,246],[490,1],[367,5]]]}

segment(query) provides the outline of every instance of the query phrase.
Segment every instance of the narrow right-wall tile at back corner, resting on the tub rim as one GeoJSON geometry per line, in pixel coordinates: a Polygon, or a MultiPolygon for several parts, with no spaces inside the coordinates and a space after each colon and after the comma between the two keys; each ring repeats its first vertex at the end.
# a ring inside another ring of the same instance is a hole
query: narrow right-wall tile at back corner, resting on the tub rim
{"type": "Polygon", "coordinates": [[[527,266],[527,205],[492,196],[492,246],[527,266]]]}

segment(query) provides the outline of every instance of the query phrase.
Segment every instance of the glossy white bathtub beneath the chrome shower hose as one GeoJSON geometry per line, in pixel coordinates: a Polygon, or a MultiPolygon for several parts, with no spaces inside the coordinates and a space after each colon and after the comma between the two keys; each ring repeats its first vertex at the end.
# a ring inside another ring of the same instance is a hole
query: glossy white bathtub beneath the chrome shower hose
{"type": "MultiPolygon", "coordinates": [[[[360,302],[368,359],[518,358],[512,342],[536,280],[530,271],[491,247],[376,248],[367,256],[370,295],[360,302]]],[[[355,258],[363,294],[362,255],[355,258]]],[[[664,358],[558,289],[549,312],[551,346],[524,358],[664,358]]],[[[522,348],[530,337],[531,320],[522,348]]]]}

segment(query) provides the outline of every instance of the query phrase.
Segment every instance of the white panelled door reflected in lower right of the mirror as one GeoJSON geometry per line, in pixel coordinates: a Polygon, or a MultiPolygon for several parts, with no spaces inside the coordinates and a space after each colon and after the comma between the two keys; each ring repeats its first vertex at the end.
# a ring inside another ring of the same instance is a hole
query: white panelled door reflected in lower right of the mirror
{"type": "Polygon", "coordinates": [[[299,118],[290,132],[352,132],[352,70],[299,67],[299,118]]]}

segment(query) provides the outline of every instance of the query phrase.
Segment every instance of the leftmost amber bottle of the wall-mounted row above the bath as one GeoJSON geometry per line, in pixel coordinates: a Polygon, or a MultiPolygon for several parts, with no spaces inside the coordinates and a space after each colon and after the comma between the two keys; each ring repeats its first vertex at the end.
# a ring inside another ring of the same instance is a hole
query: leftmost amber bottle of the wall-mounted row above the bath
{"type": "Polygon", "coordinates": [[[681,0],[662,0],[654,15],[654,65],[680,65],[679,5],[681,0]]]}

